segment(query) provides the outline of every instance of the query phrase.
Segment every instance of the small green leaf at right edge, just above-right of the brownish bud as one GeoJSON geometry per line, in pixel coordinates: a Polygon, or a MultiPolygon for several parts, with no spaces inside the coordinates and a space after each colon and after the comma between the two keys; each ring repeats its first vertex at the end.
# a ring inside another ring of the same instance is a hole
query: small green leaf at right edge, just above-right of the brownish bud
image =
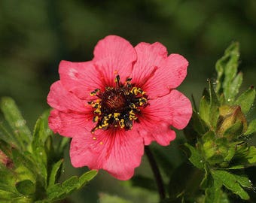
{"type": "Polygon", "coordinates": [[[255,99],[255,89],[251,86],[242,95],[239,95],[239,98],[236,99],[235,105],[239,105],[242,109],[242,113],[247,114],[251,108],[255,99]]]}

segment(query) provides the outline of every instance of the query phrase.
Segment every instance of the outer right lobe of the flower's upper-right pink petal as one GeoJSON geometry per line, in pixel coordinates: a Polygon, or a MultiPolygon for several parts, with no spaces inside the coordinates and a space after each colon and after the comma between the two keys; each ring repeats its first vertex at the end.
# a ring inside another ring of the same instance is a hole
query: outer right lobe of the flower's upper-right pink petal
{"type": "Polygon", "coordinates": [[[150,98],[157,98],[169,93],[181,84],[187,75],[187,59],[179,54],[171,54],[145,83],[144,91],[150,98]]]}

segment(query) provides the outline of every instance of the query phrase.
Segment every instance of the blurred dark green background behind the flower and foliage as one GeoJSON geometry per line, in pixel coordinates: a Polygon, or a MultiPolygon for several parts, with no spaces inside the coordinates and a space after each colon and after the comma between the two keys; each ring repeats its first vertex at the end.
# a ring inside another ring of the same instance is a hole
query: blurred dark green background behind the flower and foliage
{"type": "MultiPolygon", "coordinates": [[[[46,97],[50,84],[59,79],[59,61],[92,59],[93,47],[106,35],[120,35],[134,46],[160,41],[169,53],[185,56],[190,66],[179,89],[189,98],[193,94],[196,102],[207,86],[206,79],[215,77],[216,60],[232,41],[239,41],[242,89],[255,85],[254,0],[0,0],[0,96],[14,98],[32,129],[49,108],[46,97]]],[[[160,160],[169,159],[163,174],[184,160],[178,149],[182,139],[178,133],[169,147],[153,144],[160,160]]],[[[67,149],[64,170],[62,179],[87,168],[72,168],[67,149]]],[[[136,174],[151,182],[145,157],[136,174]]],[[[69,202],[157,202],[156,193],[134,184],[139,181],[120,182],[101,171],[69,202]]]]}

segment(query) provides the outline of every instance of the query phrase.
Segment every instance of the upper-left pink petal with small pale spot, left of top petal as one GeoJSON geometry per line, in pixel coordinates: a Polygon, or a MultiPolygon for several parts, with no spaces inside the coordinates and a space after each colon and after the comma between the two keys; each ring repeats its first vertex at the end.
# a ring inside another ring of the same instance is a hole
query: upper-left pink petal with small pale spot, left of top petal
{"type": "Polygon", "coordinates": [[[94,89],[104,90],[102,78],[93,62],[59,63],[59,77],[62,85],[79,98],[91,99],[90,92],[94,89]]]}

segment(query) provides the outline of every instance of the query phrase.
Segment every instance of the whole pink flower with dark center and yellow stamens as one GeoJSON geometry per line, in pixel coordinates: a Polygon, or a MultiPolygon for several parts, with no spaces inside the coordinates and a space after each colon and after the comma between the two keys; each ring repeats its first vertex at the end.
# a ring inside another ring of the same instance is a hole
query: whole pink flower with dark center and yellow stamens
{"type": "Polygon", "coordinates": [[[168,145],[190,120],[190,101],[175,90],[187,74],[183,56],[167,56],[158,42],[139,43],[110,35],[89,62],[62,61],[60,80],[47,96],[49,126],[71,137],[75,167],[102,168],[120,180],[134,174],[144,145],[168,145]]]}

